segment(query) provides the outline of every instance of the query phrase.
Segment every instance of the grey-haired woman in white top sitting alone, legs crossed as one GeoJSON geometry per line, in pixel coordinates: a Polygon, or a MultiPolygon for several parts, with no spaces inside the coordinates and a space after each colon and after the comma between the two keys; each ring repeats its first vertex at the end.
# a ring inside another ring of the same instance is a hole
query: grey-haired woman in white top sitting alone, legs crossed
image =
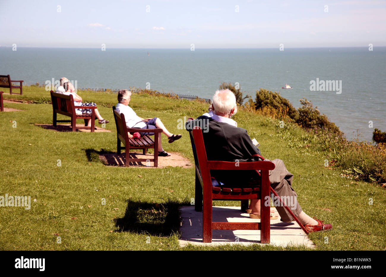
{"type": "MultiPolygon", "coordinates": [[[[155,129],[161,128],[162,133],[169,138],[169,143],[174,142],[182,137],[182,135],[173,135],[170,133],[161,120],[157,117],[154,118],[142,118],[139,117],[132,108],[129,107],[129,102],[131,99],[131,91],[129,90],[120,90],[118,91],[118,104],[115,106],[115,109],[119,113],[125,115],[126,126],[127,128],[140,128],[140,129],[155,129]]],[[[139,132],[141,135],[154,135],[152,132],[139,132]]],[[[129,137],[132,138],[133,135],[129,133],[129,137]]],[[[170,156],[162,148],[161,136],[158,136],[158,155],[161,157],[170,156]]]]}

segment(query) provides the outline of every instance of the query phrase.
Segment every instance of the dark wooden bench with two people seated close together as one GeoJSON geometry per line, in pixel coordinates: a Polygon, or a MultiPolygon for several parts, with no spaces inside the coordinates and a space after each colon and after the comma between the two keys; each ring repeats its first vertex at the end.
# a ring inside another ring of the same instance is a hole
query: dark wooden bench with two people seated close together
{"type": "Polygon", "coordinates": [[[72,131],[75,132],[76,129],[91,129],[91,132],[95,130],[95,109],[96,106],[75,106],[74,98],[72,95],[64,95],[61,93],[55,93],[51,90],[51,101],[52,101],[52,110],[53,110],[53,123],[52,125],[56,127],[57,122],[71,122],[72,131]],[[82,113],[77,115],[75,109],[91,109],[91,113],[82,113]],[[57,120],[57,114],[66,115],[71,117],[71,120],[57,120]],[[85,126],[76,127],[76,120],[84,119],[85,126]],[[86,119],[91,119],[91,126],[87,126],[86,119]]]}

